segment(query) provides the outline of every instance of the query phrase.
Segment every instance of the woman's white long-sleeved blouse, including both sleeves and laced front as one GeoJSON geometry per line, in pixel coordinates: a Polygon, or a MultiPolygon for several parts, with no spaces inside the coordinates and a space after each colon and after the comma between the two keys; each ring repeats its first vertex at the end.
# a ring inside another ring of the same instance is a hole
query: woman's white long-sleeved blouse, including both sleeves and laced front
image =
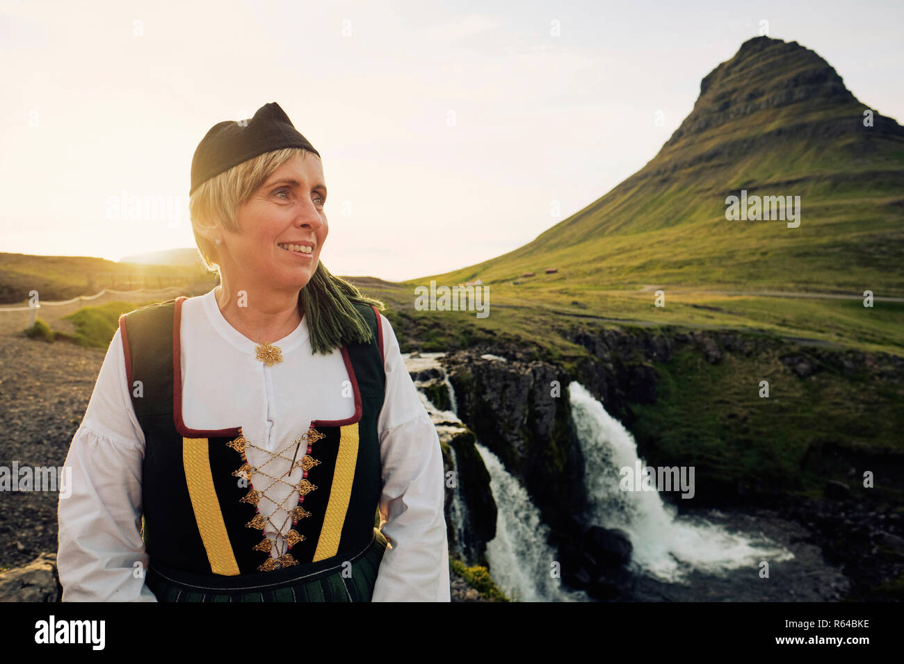
{"type": "MultiPolygon", "coordinates": [[[[386,369],[386,398],[378,420],[382,491],[381,532],[390,547],[383,554],[373,602],[449,601],[448,547],[443,513],[443,462],[437,431],[420,401],[401,357],[390,322],[380,316],[386,369]]],[[[254,341],[223,318],[215,289],[182,304],[180,331],[183,419],[193,429],[241,426],[252,444],[278,452],[307,431],[311,420],[354,415],[350,377],[342,353],[314,354],[306,320],[273,345],[283,361],[266,366],[254,341]]],[[[266,466],[279,477],[288,460],[266,466]],[[279,465],[279,464],[281,465],[279,465]]],[[[65,466],[71,495],[59,501],[57,566],[63,602],[155,602],[145,585],[148,556],[141,529],[141,479],[145,435],[127,387],[126,360],[117,330],[110,341],[81,426],[72,438],[65,466]]],[[[304,443],[299,454],[304,454],[304,443]]],[[[269,455],[246,447],[252,466],[269,455]]],[[[286,479],[301,479],[297,468],[286,479]]],[[[298,492],[279,482],[268,498],[291,509],[298,492]],[[279,491],[278,487],[283,491],[279,491]],[[293,494],[293,497],[289,497],[293,494]]],[[[261,499],[258,509],[282,524],[286,513],[261,499]]],[[[287,520],[282,533],[292,528],[287,520]]],[[[276,540],[267,523],[265,535],[276,540]]],[[[278,541],[271,556],[283,553],[278,541]]]]}

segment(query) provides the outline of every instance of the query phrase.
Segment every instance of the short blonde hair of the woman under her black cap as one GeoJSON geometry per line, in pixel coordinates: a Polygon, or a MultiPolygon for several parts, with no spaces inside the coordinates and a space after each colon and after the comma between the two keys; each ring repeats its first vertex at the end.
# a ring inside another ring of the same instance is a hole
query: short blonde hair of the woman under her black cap
{"type": "MultiPolygon", "coordinates": [[[[202,226],[219,224],[227,230],[238,232],[236,215],[239,208],[251,198],[251,194],[272,175],[282,164],[300,155],[306,159],[308,151],[302,147],[286,147],[232,166],[228,171],[202,182],[188,201],[189,217],[192,220],[194,243],[206,267],[211,272],[220,272],[216,262],[217,249],[210,238],[202,233],[202,226]]],[[[313,154],[315,157],[317,154],[313,154]]],[[[319,157],[318,157],[319,158],[319,157]]]]}

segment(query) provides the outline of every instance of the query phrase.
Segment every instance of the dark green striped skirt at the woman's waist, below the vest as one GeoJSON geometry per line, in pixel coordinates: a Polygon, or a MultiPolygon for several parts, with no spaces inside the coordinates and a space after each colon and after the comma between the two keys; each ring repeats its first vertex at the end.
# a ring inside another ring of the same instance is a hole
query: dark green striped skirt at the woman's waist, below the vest
{"type": "Polygon", "coordinates": [[[370,602],[385,550],[386,539],[374,528],[370,543],[353,556],[237,576],[151,563],[145,584],[158,602],[370,602]]]}

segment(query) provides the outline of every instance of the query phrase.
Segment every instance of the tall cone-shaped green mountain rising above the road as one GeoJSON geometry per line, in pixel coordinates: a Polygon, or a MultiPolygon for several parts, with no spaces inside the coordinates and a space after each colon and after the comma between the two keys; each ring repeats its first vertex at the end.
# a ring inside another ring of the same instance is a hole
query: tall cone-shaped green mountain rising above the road
{"type": "Polygon", "coordinates": [[[544,283],[904,295],[902,219],[904,128],[814,51],[756,37],[702,80],[692,113],[640,171],[531,243],[427,278],[504,284],[557,267],[544,283]],[[799,196],[799,225],[727,219],[741,190],[799,196]]]}

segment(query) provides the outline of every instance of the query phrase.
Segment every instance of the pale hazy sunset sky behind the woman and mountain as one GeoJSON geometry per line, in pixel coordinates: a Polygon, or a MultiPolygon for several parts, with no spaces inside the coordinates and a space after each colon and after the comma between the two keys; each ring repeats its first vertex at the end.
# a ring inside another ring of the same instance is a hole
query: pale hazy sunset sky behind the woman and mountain
{"type": "Polygon", "coordinates": [[[195,147],[276,101],[323,157],[333,274],[466,267],[644,166],[760,33],[904,123],[902,19],[831,0],[0,0],[0,251],[194,247],[195,147]]]}

